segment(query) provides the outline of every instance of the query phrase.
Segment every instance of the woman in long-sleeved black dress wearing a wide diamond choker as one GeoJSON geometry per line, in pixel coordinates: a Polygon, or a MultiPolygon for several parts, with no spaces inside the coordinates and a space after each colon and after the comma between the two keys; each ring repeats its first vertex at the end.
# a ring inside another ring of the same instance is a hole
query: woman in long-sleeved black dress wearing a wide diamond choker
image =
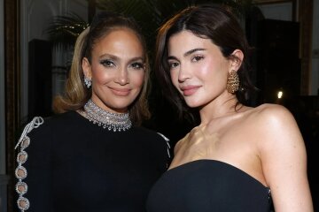
{"type": "Polygon", "coordinates": [[[17,144],[20,211],[145,210],[168,161],[167,140],[139,126],[148,76],[136,22],[98,13],[77,39],[62,113],[35,117],[17,144]]]}

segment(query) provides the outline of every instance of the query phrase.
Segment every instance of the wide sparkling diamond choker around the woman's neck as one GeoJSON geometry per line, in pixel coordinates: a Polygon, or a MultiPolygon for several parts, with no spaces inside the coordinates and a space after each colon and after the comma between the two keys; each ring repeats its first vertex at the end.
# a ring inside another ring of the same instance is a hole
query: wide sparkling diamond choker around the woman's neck
{"type": "Polygon", "coordinates": [[[128,113],[112,113],[101,109],[91,99],[84,105],[82,112],[89,121],[95,125],[102,126],[109,131],[125,131],[132,126],[128,113]]]}

